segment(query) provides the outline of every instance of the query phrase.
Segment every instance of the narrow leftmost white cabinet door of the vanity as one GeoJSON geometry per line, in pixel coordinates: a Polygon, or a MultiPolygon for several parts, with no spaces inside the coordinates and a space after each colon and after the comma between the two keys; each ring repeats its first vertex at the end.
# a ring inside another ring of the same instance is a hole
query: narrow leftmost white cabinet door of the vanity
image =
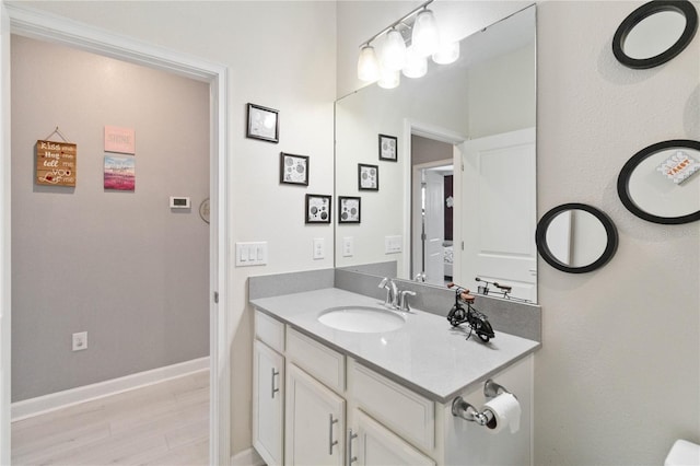
{"type": "Polygon", "coordinates": [[[255,340],[253,445],[269,466],[283,462],[284,358],[255,340]]]}

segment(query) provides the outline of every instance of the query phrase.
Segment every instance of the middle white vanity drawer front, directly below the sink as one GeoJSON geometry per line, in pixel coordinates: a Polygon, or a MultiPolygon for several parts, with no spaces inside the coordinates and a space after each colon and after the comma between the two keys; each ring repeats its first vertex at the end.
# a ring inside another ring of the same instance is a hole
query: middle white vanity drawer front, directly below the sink
{"type": "Polygon", "coordinates": [[[346,358],[338,351],[287,328],[287,358],[338,393],[346,389],[346,358]]]}

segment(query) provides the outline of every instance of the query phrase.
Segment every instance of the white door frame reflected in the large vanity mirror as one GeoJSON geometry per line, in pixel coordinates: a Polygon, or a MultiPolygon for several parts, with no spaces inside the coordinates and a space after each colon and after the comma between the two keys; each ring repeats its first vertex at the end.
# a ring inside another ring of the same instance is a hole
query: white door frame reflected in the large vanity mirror
{"type": "MultiPolygon", "coordinates": [[[[454,166],[454,191],[453,197],[455,199],[462,198],[462,156],[458,154],[457,147],[462,144],[464,141],[468,140],[464,135],[460,135],[456,131],[453,131],[447,128],[443,128],[436,125],[427,124],[423,121],[418,121],[415,119],[406,118],[404,119],[404,159],[406,160],[404,166],[404,199],[411,199],[411,179],[412,179],[412,149],[411,149],[411,136],[421,136],[428,139],[434,139],[436,141],[446,142],[455,147],[455,155],[453,158],[453,166],[454,166]],[[457,197],[459,196],[459,198],[457,197]]],[[[411,251],[411,205],[412,202],[404,202],[404,251],[411,251]]],[[[462,241],[462,231],[457,229],[457,221],[462,221],[460,217],[462,212],[459,211],[459,205],[455,205],[454,210],[454,230],[453,230],[453,242],[457,243],[462,241]]],[[[399,277],[407,277],[409,280],[412,279],[411,273],[411,261],[412,257],[409,257],[409,260],[404,260],[402,270],[397,270],[399,277]]],[[[454,263],[453,268],[456,268],[459,261],[459,251],[458,248],[454,248],[454,263]]],[[[457,278],[455,277],[455,280],[457,278]]]]}

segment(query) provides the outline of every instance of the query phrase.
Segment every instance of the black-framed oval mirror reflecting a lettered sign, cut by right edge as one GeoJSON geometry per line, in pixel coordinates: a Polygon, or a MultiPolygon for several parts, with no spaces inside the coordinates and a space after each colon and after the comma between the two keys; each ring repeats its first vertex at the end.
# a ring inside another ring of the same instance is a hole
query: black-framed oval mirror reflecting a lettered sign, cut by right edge
{"type": "Polygon", "coordinates": [[[654,223],[700,220],[700,142],[675,139],[642,149],[617,179],[625,207],[654,223]]]}

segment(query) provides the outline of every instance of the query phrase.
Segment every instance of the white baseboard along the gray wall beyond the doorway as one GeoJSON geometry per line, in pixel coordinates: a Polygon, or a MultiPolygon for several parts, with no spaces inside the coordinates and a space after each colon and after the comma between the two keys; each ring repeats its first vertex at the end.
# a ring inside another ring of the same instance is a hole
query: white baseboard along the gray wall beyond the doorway
{"type": "Polygon", "coordinates": [[[209,369],[209,357],[192,359],[164,368],[152,369],[124,377],[51,393],[36,398],[24,399],[12,404],[12,421],[43,415],[56,409],[66,408],[79,403],[102,398],[108,395],[153,385],[171,378],[182,377],[192,372],[209,369]]]}

